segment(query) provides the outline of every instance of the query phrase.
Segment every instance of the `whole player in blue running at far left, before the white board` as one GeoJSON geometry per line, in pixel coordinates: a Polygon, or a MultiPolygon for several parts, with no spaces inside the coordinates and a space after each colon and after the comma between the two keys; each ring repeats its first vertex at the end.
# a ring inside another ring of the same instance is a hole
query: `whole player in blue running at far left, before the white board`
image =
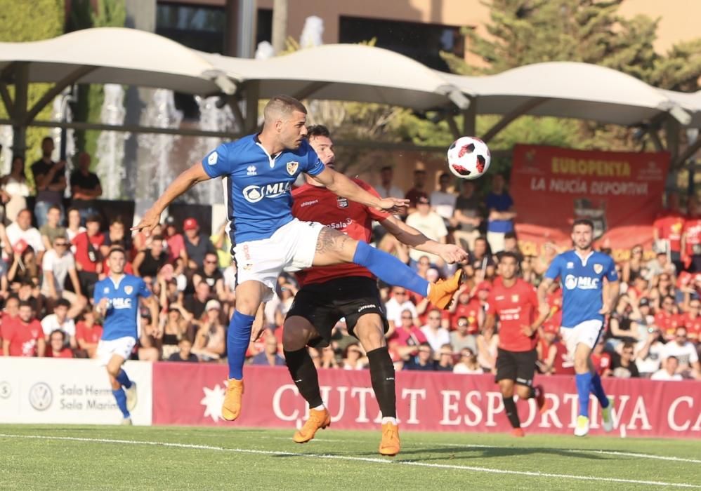
{"type": "Polygon", "coordinates": [[[96,314],[104,319],[97,357],[110,375],[112,394],[124,416],[122,424],[131,424],[130,411],[136,406],[136,382],[129,379],[122,364],[138,339],[139,299],[150,308],[152,319],[158,318],[158,304],[141,278],[124,274],[125,263],[124,249],[112,248],[107,255],[110,274],[95,284],[93,300],[96,314]]]}

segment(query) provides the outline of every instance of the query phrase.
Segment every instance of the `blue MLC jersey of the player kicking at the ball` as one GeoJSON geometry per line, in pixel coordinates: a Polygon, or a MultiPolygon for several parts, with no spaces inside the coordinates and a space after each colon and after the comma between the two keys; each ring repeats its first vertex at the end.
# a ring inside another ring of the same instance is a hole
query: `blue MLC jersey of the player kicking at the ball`
{"type": "Polygon", "coordinates": [[[268,155],[258,135],[223,143],[202,160],[209,177],[224,177],[224,200],[232,243],[269,238],[292,220],[291,186],[299,173],[325,169],[302,141],[299,149],[268,155]]]}

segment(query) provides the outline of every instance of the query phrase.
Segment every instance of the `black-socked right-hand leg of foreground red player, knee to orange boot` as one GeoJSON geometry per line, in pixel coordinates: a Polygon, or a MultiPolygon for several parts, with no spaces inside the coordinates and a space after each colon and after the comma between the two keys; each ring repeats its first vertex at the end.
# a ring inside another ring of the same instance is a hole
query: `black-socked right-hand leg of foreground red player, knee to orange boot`
{"type": "Polygon", "coordinates": [[[367,354],[372,390],[382,413],[382,438],[379,452],[381,455],[397,455],[401,445],[397,422],[395,373],[394,363],[389,356],[385,341],[384,323],[379,314],[365,314],[358,318],[353,332],[360,339],[360,344],[367,354]]]}

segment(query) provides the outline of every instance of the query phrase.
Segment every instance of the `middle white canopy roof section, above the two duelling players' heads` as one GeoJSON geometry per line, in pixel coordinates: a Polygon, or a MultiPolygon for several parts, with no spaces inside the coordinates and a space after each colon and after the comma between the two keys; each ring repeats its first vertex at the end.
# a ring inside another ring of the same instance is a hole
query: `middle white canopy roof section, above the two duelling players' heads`
{"type": "Polygon", "coordinates": [[[430,109],[449,105],[448,95],[456,91],[439,72],[411,58],[358,44],[327,44],[267,60],[202,56],[240,83],[257,81],[263,98],[286,93],[430,109]]]}

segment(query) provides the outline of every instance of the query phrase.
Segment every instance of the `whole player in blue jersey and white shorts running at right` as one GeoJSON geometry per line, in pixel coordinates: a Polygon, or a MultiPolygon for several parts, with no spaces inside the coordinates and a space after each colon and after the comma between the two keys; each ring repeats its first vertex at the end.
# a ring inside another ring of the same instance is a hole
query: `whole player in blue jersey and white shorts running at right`
{"type": "Polygon", "coordinates": [[[544,314],[550,309],[546,301],[550,286],[557,278],[562,283],[560,333],[570,356],[575,360],[579,396],[575,436],[589,433],[589,392],[596,396],[601,405],[603,429],[613,429],[611,403],[603,391],[601,377],[594,370],[590,355],[603,332],[603,318],[615,305],[618,275],[612,258],[591,248],[593,239],[594,224],[590,220],[575,220],[572,226],[575,248],[555,257],[538,288],[540,310],[544,314]]]}

